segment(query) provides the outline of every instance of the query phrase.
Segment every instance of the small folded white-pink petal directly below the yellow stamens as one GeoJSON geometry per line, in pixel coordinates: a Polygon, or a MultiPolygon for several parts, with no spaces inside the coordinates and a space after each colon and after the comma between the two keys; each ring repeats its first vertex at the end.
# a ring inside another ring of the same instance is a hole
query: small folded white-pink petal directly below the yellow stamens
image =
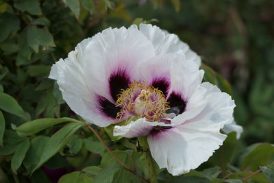
{"type": "Polygon", "coordinates": [[[133,121],[125,126],[116,125],[114,127],[114,136],[125,136],[127,138],[134,138],[146,136],[153,130],[155,126],[171,126],[165,123],[146,121],[145,118],[133,121]]]}

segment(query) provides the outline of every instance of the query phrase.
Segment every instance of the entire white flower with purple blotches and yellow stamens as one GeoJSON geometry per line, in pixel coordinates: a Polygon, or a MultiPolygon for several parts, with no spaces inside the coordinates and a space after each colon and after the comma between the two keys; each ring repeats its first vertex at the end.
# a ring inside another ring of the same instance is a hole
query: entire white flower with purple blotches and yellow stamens
{"type": "MultiPolygon", "coordinates": [[[[151,156],[173,175],[195,169],[235,129],[234,101],[201,83],[201,59],[175,34],[140,24],[108,28],[80,42],[53,64],[70,108],[101,127],[119,121],[114,135],[147,136],[151,156]],[[231,125],[232,124],[232,125],[231,125]]],[[[240,132],[240,131],[238,131],[240,132]]]]}

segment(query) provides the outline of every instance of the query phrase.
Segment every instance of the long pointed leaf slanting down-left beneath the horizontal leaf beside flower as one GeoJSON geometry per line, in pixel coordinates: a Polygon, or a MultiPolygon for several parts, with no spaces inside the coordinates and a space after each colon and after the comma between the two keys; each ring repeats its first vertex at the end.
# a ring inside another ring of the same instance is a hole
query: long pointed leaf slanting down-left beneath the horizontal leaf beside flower
{"type": "Polygon", "coordinates": [[[71,138],[71,136],[73,136],[73,134],[83,125],[84,124],[82,123],[69,123],[58,130],[58,132],[55,132],[55,134],[49,138],[47,145],[45,145],[45,150],[43,151],[42,157],[34,171],[47,162],[49,158],[58,153],[58,151],[66,145],[66,142],[69,141],[69,138],[71,138]]]}

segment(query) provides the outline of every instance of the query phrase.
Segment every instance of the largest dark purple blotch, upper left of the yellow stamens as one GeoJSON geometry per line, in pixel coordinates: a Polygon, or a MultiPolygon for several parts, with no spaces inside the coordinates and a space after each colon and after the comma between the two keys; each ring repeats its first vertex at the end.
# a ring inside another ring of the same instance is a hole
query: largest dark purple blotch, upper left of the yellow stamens
{"type": "Polygon", "coordinates": [[[129,75],[127,75],[127,72],[124,69],[119,68],[110,75],[108,83],[110,86],[110,95],[112,96],[112,99],[116,101],[121,90],[126,90],[130,84],[129,75]]]}

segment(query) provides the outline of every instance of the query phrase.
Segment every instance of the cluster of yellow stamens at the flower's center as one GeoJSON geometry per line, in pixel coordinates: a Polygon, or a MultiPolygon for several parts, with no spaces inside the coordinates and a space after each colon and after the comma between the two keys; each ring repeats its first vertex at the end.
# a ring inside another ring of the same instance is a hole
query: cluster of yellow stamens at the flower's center
{"type": "Polygon", "coordinates": [[[169,109],[162,91],[147,86],[145,82],[134,81],[118,97],[116,106],[122,108],[117,114],[117,118],[120,119],[136,115],[145,117],[147,121],[159,121],[169,109]]]}

